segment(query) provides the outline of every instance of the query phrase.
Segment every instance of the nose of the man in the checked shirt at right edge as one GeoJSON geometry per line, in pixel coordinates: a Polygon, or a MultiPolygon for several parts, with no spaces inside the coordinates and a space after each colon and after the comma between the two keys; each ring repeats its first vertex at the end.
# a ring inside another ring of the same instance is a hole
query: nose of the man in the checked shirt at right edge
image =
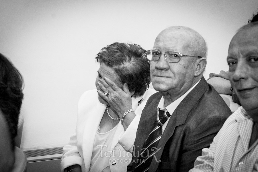
{"type": "Polygon", "coordinates": [[[244,59],[239,60],[238,63],[236,64],[236,69],[235,69],[233,77],[232,77],[233,81],[236,82],[241,79],[243,79],[243,80],[246,79],[247,71],[248,71],[247,62],[244,59]]]}

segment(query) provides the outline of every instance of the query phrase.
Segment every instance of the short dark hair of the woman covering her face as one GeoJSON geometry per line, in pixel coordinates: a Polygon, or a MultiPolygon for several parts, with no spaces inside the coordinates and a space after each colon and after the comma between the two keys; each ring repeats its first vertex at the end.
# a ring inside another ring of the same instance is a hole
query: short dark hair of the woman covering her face
{"type": "Polygon", "coordinates": [[[144,94],[150,84],[150,61],[145,52],[140,45],[115,42],[101,49],[96,59],[114,69],[136,97],[144,94]]]}

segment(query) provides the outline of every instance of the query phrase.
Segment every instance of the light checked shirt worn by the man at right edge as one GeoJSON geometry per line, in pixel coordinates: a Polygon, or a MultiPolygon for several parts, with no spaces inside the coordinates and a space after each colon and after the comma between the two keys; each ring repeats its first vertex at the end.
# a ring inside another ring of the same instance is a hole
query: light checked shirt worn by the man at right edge
{"type": "Polygon", "coordinates": [[[258,171],[258,140],[249,147],[253,119],[239,107],[225,121],[210,148],[202,150],[189,172],[250,172],[258,171]]]}

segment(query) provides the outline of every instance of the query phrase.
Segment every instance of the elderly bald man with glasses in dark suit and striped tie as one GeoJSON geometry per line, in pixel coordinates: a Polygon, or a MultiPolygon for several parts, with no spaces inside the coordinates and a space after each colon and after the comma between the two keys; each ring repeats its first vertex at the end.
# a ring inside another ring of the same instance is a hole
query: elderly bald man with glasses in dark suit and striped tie
{"type": "Polygon", "coordinates": [[[202,76],[206,42],[191,28],[172,26],[146,54],[159,92],[142,111],[128,171],[189,171],[231,114],[202,76]]]}

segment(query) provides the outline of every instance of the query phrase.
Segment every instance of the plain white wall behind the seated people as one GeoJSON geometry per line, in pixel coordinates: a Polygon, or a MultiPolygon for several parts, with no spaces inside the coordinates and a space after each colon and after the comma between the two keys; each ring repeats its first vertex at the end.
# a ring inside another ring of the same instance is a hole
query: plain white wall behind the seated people
{"type": "Polygon", "coordinates": [[[257,0],[1,0],[0,52],[25,81],[21,148],[67,144],[77,101],[95,88],[102,47],[119,41],[151,49],[164,28],[188,26],[208,43],[207,79],[228,70],[229,42],[257,7],[257,0]]]}

